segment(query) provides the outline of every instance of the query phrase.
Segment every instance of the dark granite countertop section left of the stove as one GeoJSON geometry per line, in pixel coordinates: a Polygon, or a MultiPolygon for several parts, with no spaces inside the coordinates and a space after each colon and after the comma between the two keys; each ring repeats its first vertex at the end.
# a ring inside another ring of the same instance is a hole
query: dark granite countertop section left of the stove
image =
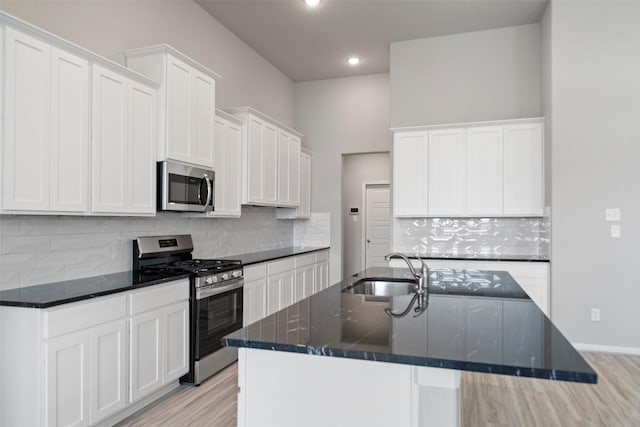
{"type": "Polygon", "coordinates": [[[183,273],[143,274],[139,271],[125,271],[65,280],[0,291],[0,306],[47,308],[188,277],[188,274],[183,273]]]}

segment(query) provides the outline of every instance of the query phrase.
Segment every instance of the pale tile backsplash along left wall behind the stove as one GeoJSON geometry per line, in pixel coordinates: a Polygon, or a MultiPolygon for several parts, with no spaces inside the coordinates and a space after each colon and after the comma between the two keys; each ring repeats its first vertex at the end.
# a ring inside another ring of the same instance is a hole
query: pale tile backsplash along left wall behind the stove
{"type": "Polygon", "coordinates": [[[138,236],[191,234],[197,258],[292,246],[293,223],[277,220],[275,208],[251,206],[233,219],[0,215],[0,289],[130,270],[138,236]]]}

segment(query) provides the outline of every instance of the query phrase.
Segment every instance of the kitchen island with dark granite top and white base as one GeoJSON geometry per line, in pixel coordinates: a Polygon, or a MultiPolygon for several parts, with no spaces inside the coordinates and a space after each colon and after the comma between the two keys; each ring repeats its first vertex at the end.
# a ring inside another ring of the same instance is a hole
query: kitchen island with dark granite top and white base
{"type": "Polygon", "coordinates": [[[460,372],[595,383],[596,373],[505,272],[434,270],[411,295],[353,292],[371,268],[225,338],[239,347],[238,425],[456,426],[460,372]]]}

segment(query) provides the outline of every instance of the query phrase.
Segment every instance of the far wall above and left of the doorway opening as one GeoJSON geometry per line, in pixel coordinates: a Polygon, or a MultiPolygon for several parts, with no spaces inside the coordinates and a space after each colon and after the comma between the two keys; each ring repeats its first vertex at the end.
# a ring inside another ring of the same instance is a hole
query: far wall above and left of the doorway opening
{"type": "Polygon", "coordinates": [[[390,151],[389,75],[296,83],[295,128],[313,152],[311,208],[331,214],[331,277],[342,279],[342,154],[390,151]]]}

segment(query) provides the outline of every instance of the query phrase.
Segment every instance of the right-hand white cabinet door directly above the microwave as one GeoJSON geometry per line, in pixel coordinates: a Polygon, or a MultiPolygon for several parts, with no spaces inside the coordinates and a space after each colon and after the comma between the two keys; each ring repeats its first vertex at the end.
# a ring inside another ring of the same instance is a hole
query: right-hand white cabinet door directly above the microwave
{"type": "Polygon", "coordinates": [[[214,116],[216,111],[216,81],[204,73],[192,72],[191,145],[192,163],[214,165],[214,116]]]}

